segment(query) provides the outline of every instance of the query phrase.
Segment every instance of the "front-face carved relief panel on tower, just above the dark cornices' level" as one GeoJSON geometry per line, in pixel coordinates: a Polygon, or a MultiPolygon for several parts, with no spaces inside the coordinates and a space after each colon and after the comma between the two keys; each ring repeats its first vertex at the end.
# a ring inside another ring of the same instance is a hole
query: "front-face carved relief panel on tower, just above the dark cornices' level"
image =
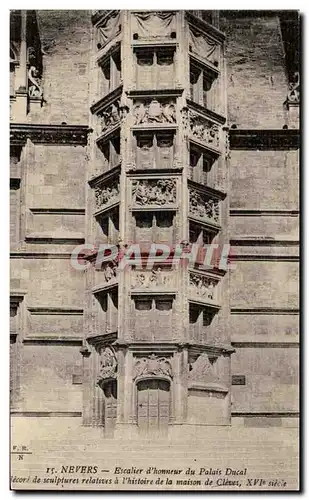
{"type": "Polygon", "coordinates": [[[134,125],[143,123],[176,123],[176,106],[173,100],[152,99],[134,104],[134,125]]]}

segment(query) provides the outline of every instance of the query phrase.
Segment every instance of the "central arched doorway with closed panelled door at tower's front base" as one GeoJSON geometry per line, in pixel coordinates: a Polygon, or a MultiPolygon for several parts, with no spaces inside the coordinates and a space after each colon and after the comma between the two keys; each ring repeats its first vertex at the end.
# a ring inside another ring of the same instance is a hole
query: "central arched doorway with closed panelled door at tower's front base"
{"type": "Polygon", "coordinates": [[[169,421],[169,381],[151,378],[137,382],[137,424],[140,433],[166,435],[169,421]]]}

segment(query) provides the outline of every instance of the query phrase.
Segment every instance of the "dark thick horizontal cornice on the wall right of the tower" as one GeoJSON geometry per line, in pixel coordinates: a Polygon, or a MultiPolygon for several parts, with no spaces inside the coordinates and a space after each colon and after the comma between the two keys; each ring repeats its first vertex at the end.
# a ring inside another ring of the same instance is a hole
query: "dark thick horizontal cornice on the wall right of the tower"
{"type": "Polygon", "coordinates": [[[230,148],[247,151],[285,151],[299,149],[300,133],[296,129],[230,129],[230,148]]]}

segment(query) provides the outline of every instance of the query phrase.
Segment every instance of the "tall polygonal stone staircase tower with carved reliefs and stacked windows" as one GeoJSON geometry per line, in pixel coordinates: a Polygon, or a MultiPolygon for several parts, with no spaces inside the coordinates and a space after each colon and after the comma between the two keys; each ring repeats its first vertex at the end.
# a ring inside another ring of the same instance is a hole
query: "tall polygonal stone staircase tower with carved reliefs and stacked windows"
{"type": "Polygon", "coordinates": [[[226,269],[185,258],[229,241],[217,15],[92,17],[86,241],[140,252],[123,268],[92,253],[85,272],[83,423],[106,437],[230,424],[226,269]],[[154,243],[169,256],[151,265],[154,243]]]}

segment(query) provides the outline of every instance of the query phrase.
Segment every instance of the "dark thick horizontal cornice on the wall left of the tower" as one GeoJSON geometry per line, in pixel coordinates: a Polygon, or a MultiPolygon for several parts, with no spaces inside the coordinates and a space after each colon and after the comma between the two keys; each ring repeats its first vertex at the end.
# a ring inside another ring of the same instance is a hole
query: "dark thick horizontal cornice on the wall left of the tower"
{"type": "Polygon", "coordinates": [[[10,145],[23,146],[27,139],[34,144],[87,145],[87,135],[92,130],[86,125],[44,125],[21,124],[10,125],[10,145]]]}

